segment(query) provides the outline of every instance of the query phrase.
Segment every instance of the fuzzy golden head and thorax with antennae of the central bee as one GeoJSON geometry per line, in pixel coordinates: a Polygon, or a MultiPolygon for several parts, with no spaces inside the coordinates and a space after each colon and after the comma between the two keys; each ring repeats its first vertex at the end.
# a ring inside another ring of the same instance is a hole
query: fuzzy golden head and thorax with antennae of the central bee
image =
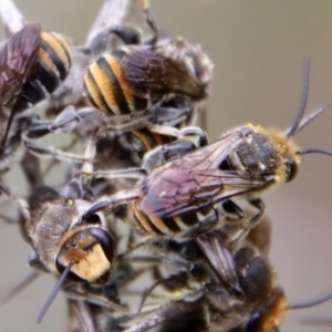
{"type": "Polygon", "coordinates": [[[243,177],[263,179],[268,185],[292,180],[297,174],[301,155],[332,152],[310,148],[300,149],[291,137],[318,117],[328,106],[303,118],[309,86],[309,61],[305,63],[304,86],[299,112],[293,125],[286,132],[249,124],[241,144],[230,153],[228,164],[243,177]]]}

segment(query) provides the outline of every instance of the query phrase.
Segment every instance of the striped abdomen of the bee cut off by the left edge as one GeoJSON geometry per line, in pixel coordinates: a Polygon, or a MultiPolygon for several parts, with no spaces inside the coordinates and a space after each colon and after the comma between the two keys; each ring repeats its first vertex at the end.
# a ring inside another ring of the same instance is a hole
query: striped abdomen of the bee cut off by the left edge
{"type": "Polygon", "coordinates": [[[68,41],[55,32],[42,32],[34,73],[23,84],[14,111],[24,111],[48,97],[64,81],[71,63],[72,52],[68,41]]]}

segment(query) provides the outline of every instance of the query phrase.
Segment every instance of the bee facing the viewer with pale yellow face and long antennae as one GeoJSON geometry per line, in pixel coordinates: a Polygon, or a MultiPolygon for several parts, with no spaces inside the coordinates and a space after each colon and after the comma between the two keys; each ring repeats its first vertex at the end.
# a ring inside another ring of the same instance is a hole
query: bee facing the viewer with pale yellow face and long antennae
{"type": "MultiPolygon", "coordinates": [[[[93,151],[94,144],[91,141],[85,153],[93,151]]],[[[84,164],[83,167],[92,166],[84,164]]],[[[28,173],[31,173],[29,168],[28,173]]],[[[110,277],[117,245],[116,236],[102,214],[87,219],[83,217],[92,201],[89,179],[73,177],[63,194],[45,185],[35,186],[27,201],[15,198],[8,190],[6,194],[20,206],[23,238],[34,251],[29,258],[30,267],[60,277],[42,308],[39,322],[61,288],[74,300],[89,298],[93,303],[102,302],[104,307],[124,310],[116,299],[103,297],[106,289],[114,288],[110,277]]],[[[24,286],[24,282],[19,284],[7,298],[24,286]]]]}

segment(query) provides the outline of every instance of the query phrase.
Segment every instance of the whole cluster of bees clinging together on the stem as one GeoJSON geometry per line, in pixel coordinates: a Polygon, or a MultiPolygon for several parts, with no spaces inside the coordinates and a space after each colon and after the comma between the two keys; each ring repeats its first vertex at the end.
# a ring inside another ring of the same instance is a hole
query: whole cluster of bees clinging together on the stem
{"type": "Polygon", "coordinates": [[[162,34],[146,1],[127,2],[145,33],[110,25],[105,1],[84,45],[4,20],[0,166],[7,173],[23,145],[30,193],[4,180],[0,190],[33,255],[2,302],[50,272],[58,282],[38,321],[61,290],[69,331],[279,331],[292,307],[269,259],[261,196],[292,180],[302,155],[332,154],[291,138],[326,108],[303,118],[309,62],[287,132],[250,124],[210,143],[196,118],[211,93],[211,60],[162,34]],[[71,144],[41,144],[51,134],[71,144]],[[69,166],[50,186],[55,162],[69,166]]]}

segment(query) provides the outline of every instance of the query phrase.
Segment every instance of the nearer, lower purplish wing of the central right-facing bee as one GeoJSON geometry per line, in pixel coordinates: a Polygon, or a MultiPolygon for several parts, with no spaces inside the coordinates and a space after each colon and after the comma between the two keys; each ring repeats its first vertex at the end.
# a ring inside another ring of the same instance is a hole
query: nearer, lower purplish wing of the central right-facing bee
{"type": "Polygon", "coordinates": [[[220,169],[165,169],[146,191],[139,208],[146,215],[174,218],[211,207],[266,185],[220,169]]]}

